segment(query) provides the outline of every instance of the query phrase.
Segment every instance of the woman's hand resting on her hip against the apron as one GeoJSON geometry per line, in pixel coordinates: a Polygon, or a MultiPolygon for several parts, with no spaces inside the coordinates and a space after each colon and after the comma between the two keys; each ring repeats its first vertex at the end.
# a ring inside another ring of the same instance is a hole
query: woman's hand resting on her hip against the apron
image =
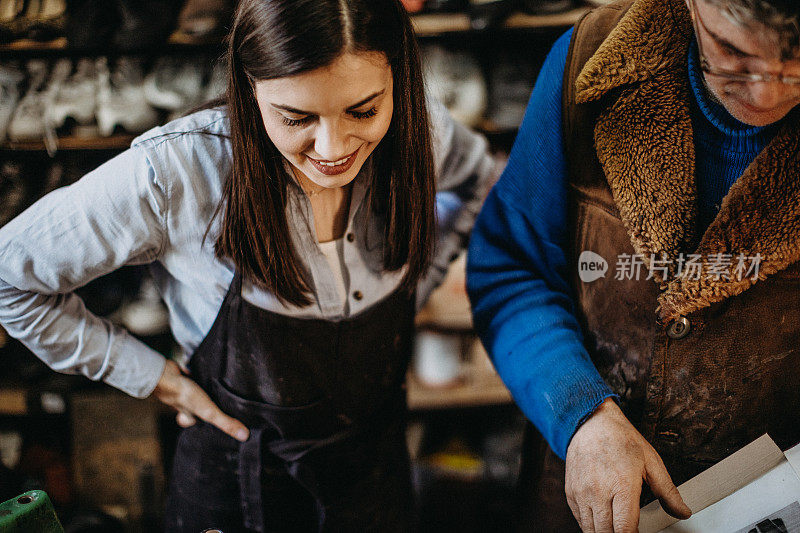
{"type": "Polygon", "coordinates": [[[174,361],[167,361],[153,394],[178,411],[176,420],[181,427],[193,425],[197,417],[242,442],[250,436],[244,424],[223,413],[197,383],[181,373],[174,361]]]}

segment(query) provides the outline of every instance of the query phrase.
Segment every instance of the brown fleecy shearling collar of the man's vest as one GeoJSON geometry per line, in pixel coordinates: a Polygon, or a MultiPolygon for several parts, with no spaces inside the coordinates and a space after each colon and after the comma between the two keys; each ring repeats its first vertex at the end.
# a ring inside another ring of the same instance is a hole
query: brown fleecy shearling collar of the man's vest
{"type": "MultiPolygon", "coordinates": [[[[697,235],[697,186],[688,80],[693,38],[683,0],[637,0],[584,66],[576,100],[608,96],[595,146],[631,243],[645,258],[672,260],[657,271],[659,318],[668,322],[740,294],[756,281],[708,276],[710,254],[762,260],[759,280],[800,260],[800,134],[787,120],[747,168],[719,214],[697,235]],[[698,239],[698,237],[700,237],[698,239]],[[675,277],[679,254],[700,254],[699,280],[675,277]]],[[[734,261],[735,266],[735,261],[734,261]]]]}

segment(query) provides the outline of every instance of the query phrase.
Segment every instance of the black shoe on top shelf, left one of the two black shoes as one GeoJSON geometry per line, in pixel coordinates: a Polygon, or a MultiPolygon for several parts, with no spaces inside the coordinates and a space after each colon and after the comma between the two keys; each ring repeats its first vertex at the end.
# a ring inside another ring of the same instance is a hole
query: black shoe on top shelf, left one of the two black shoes
{"type": "Polygon", "coordinates": [[[66,34],[75,50],[105,50],[119,15],[109,0],[70,0],[67,5],[66,34]]]}

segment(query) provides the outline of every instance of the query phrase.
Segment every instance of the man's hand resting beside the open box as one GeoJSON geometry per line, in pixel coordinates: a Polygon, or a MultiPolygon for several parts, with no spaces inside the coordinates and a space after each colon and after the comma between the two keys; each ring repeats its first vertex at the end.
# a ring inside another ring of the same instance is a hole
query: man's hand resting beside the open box
{"type": "Polygon", "coordinates": [[[567,448],[567,502],[581,529],[638,531],[642,481],[669,514],[691,516],[661,457],[609,398],[578,428],[567,448]]]}

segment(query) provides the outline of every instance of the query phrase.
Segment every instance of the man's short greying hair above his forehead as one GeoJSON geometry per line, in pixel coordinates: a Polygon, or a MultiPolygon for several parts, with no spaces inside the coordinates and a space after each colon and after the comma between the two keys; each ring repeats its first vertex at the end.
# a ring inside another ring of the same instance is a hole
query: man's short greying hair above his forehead
{"type": "Polygon", "coordinates": [[[800,0],[706,0],[734,23],[775,31],[781,57],[800,58],[800,0]]]}

